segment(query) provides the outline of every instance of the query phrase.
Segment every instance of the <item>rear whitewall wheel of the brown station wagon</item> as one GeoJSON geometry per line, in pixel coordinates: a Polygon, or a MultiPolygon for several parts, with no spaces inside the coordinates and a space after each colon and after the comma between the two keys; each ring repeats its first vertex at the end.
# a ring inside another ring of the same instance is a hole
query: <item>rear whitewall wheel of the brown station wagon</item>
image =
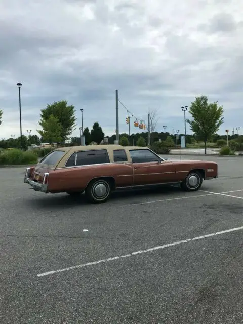
{"type": "Polygon", "coordinates": [[[91,203],[105,203],[111,195],[111,183],[107,179],[94,179],[85,190],[91,203]]]}

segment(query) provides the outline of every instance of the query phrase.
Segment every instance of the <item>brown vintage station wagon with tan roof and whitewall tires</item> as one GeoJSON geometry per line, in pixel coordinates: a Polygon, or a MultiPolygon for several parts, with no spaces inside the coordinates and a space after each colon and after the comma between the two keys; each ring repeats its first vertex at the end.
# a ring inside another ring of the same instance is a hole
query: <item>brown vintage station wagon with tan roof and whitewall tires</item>
{"type": "Polygon", "coordinates": [[[85,191],[89,200],[103,203],[113,190],[177,184],[196,191],[204,180],[218,177],[218,164],[209,161],[170,161],[147,147],[89,145],[62,147],[27,168],[24,182],[35,191],[85,191]]]}

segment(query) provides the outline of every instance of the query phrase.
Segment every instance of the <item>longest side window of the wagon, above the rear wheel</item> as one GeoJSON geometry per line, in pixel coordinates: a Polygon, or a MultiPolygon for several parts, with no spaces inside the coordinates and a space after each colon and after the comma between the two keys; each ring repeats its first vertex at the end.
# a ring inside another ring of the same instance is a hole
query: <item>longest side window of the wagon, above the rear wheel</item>
{"type": "Polygon", "coordinates": [[[90,150],[77,152],[76,166],[109,163],[107,150],[90,150]]]}

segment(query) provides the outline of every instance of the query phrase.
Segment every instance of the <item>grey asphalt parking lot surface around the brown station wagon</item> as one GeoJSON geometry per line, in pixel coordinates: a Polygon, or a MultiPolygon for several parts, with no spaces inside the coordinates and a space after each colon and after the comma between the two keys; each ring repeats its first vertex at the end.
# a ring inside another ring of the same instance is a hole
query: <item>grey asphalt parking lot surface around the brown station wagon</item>
{"type": "Polygon", "coordinates": [[[0,322],[242,323],[243,158],[182,159],[217,161],[219,178],[101,205],[0,168],[0,322]]]}

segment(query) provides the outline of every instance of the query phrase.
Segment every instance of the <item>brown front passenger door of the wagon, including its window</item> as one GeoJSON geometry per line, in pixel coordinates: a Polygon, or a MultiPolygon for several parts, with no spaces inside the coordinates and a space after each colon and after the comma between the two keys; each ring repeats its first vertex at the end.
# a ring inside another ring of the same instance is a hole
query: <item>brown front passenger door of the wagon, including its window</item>
{"type": "Polygon", "coordinates": [[[129,150],[134,170],[134,185],[173,182],[176,170],[173,162],[160,160],[149,149],[129,150]]]}

